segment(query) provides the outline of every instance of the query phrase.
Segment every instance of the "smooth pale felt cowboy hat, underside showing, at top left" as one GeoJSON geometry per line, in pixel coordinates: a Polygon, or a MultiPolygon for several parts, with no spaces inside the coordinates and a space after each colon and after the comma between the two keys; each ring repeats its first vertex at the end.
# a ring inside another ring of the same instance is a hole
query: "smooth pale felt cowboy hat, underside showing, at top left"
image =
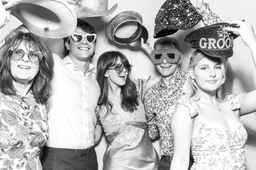
{"type": "Polygon", "coordinates": [[[64,0],[13,0],[4,5],[29,31],[50,38],[70,36],[77,26],[74,10],[64,0]]]}

